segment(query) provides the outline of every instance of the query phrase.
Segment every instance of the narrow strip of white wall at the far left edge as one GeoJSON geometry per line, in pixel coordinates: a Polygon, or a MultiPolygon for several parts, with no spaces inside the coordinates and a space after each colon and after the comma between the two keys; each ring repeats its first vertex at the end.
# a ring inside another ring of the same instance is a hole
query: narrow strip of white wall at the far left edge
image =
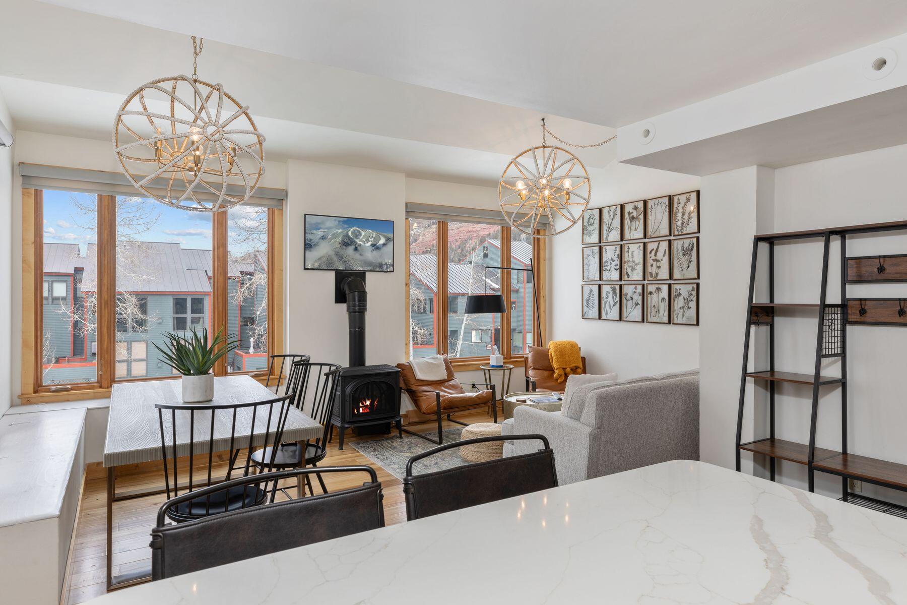
{"type": "MultiPolygon", "coordinates": [[[[13,119],[6,109],[3,95],[0,94],[0,122],[10,132],[15,132],[13,119]]],[[[16,141],[18,144],[18,141],[16,141]]],[[[12,318],[10,307],[17,296],[12,285],[13,270],[13,157],[14,151],[9,147],[0,147],[0,385],[10,384],[12,367],[12,318]]],[[[9,408],[12,392],[0,390],[0,415],[9,408]]]]}

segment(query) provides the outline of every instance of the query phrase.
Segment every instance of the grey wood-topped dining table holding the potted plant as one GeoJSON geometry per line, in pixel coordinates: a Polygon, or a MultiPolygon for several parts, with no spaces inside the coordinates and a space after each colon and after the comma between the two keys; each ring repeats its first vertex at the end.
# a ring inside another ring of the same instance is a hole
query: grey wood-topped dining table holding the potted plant
{"type": "MultiPolygon", "coordinates": [[[[274,391],[248,375],[215,376],[214,398],[199,405],[229,405],[266,402],[276,398],[274,391]]],[[[107,590],[131,586],[150,581],[151,569],[140,569],[113,576],[113,504],[145,496],[166,493],[166,487],[116,491],[117,468],[124,465],[148,463],[161,460],[161,427],[156,404],[181,404],[180,380],[141,380],[116,383],[111,390],[110,415],[107,420],[107,436],[104,441],[103,465],[107,468],[107,590]]],[[[190,409],[192,404],[183,404],[190,409]]],[[[249,408],[250,409],[250,408],[249,408]]],[[[231,439],[244,443],[252,435],[252,444],[262,445],[270,431],[273,434],[277,418],[268,421],[259,415],[255,425],[253,416],[237,416],[235,434],[231,435],[232,424],[224,415],[224,422],[214,426],[214,451],[229,449],[231,439]]],[[[218,416],[216,416],[216,419],[218,416]]],[[[201,427],[197,427],[202,430],[201,427]]],[[[324,427],[294,406],[290,406],[283,431],[283,441],[305,443],[321,436],[324,427]]],[[[204,435],[207,437],[207,434],[204,435]]],[[[177,446],[188,451],[188,437],[177,437],[177,446]]],[[[198,437],[197,437],[198,439],[198,437]]],[[[248,443],[248,441],[246,442],[248,443]]],[[[199,444],[196,444],[198,446],[199,444]]],[[[206,451],[207,453],[207,451],[206,451]]],[[[163,480],[163,473],[161,473],[163,480]]],[[[161,481],[162,483],[162,481],[161,481]]],[[[201,486],[201,485],[199,485],[201,486]]],[[[151,535],[151,527],[148,528],[151,535]]]]}

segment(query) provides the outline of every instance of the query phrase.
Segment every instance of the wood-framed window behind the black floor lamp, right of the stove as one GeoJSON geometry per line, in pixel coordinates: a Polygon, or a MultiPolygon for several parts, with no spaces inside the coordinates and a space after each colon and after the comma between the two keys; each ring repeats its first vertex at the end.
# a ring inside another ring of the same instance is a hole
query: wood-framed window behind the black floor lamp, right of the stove
{"type": "Polygon", "coordinates": [[[481,358],[493,346],[504,356],[525,355],[532,345],[536,314],[532,274],[536,241],[510,227],[474,222],[410,219],[407,225],[410,356],[423,356],[425,339],[415,331],[417,322],[446,334],[424,355],[481,358]],[[428,290],[415,291],[416,283],[428,290]],[[466,298],[475,294],[501,294],[506,312],[466,315],[466,298]],[[446,305],[443,315],[426,312],[440,306],[438,301],[446,305]]]}

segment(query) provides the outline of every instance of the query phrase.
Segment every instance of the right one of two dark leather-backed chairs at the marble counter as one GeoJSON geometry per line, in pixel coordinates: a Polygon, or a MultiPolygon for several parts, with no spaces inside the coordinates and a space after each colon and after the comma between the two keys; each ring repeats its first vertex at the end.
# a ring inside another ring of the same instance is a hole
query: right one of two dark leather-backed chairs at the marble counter
{"type": "Polygon", "coordinates": [[[525,493],[558,486],[554,452],[541,434],[508,434],[464,439],[433,447],[415,454],[406,462],[403,493],[406,520],[422,519],[442,512],[491,503],[525,493]],[[531,454],[497,458],[481,463],[463,464],[434,473],[413,474],[413,464],[454,447],[511,439],[538,439],[544,448],[531,454]]]}

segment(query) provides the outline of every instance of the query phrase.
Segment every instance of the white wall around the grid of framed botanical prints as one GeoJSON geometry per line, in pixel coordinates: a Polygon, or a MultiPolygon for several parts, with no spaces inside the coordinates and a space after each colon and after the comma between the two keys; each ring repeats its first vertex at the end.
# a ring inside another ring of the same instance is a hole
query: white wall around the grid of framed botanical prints
{"type": "MultiPolygon", "coordinates": [[[[590,207],[654,198],[699,189],[699,178],[611,163],[590,170],[590,207]]],[[[717,201],[703,194],[702,218],[717,201]]],[[[705,223],[703,236],[705,236],[705,223]]],[[[575,340],[590,373],[617,372],[621,378],[696,367],[699,328],[624,323],[580,317],[580,225],[549,239],[549,340],[575,340]]],[[[703,266],[707,261],[703,261],[703,266]]]]}

